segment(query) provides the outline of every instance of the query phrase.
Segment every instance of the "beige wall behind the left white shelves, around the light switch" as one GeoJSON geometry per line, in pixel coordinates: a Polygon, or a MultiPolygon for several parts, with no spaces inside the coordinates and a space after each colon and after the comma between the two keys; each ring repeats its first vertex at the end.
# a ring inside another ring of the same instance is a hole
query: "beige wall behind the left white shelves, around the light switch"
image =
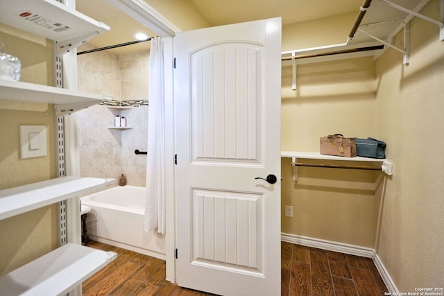
{"type": "MultiPolygon", "coordinates": [[[[51,85],[51,42],[3,24],[0,40],[8,53],[21,60],[21,81],[51,85]]],[[[51,104],[0,100],[0,190],[56,177],[54,123],[51,104]],[[20,159],[19,125],[46,125],[45,157],[20,159]]],[[[56,248],[56,226],[55,205],[1,220],[0,275],[56,248]]]]}

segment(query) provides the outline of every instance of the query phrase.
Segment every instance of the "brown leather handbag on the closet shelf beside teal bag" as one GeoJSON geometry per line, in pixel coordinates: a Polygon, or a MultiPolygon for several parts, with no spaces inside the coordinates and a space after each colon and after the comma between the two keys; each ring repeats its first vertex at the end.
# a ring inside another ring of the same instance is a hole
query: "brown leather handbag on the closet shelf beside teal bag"
{"type": "Polygon", "coordinates": [[[345,138],[342,134],[330,134],[319,139],[321,143],[321,154],[342,157],[356,156],[355,138],[345,138]]]}

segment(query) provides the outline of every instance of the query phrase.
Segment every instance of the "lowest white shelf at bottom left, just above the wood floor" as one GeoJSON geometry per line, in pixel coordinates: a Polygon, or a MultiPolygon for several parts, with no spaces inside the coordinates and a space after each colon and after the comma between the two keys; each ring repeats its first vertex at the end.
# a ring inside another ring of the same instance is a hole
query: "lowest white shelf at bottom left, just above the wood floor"
{"type": "Polygon", "coordinates": [[[0,295],[65,295],[116,257],[68,243],[0,277],[0,295]]]}

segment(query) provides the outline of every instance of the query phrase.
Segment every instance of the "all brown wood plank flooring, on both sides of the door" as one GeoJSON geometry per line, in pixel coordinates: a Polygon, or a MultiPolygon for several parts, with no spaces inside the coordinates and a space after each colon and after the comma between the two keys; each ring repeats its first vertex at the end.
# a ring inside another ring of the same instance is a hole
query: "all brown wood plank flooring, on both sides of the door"
{"type": "MultiPolygon", "coordinates": [[[[117,252],[117,259],[83,282],[83,295],[210,296],[165,279],[165,261],[104,243],[89,247],[117,252]]],[[[282,295],[373,296],[386,286],[371,259],[281,243],[282,295]]]]}

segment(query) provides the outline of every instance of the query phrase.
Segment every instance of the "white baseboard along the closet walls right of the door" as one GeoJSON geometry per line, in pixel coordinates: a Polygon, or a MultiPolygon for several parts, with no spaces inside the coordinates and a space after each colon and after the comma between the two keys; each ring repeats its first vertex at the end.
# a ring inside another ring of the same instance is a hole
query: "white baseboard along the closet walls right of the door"
{"type": "Polygon", "coordinates": [[[307,236],[297,236],[295,234],[281,234],[281,241],[285,241],[287,243],[294,243],[296,245],[304,245],[305,247],[317,247],[318,249],[334,251],[344,254],[362,256],[373,259],[379,274],[386,284],[388,292],[390,293],[399,293],[398,288],[396,288],[395,283],[391,279],[390,275],[384,264],[382,264],[381,259],[377,256],[374,249],[370,247],[360,247],[359,245],[348,245],[346,243],[337,243],[335,241],[325,241],[318,238],[310,238],[307,236]]]}

